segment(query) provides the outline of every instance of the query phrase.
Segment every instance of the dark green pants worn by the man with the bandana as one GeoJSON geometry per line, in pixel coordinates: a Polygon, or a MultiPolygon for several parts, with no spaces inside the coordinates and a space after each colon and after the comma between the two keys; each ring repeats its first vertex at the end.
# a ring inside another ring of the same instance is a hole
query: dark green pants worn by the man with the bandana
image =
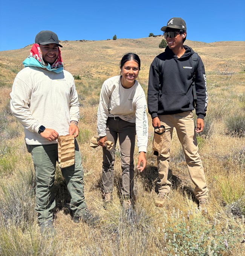
{"type": "MultiPolygon", "coordinates": [[[[55,208],[54,175],[58,158],[58,144],[26,145],[28,152],[32,154],[36,175],[36,207],[38,222],[52,220],[55,208]]],[[[87,206],[83,194],[83,166],[77,141],[75,140],[75,164],[61,169],[66,179],[67,190],[70,194],[70,209],[74,216],[83,214],[87,206]]]]}

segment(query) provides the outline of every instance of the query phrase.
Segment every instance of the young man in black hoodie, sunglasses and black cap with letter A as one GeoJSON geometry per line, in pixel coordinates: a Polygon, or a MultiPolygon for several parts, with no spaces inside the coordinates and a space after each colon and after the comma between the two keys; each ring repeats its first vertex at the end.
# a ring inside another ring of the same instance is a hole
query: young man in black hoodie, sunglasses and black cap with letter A
{"type": "Polygon", "coordinates": [[[166,129],[157,156],[159,194],[155,198],[155,205],[162,207],[170,192],[171,182],[167,176],[170,144],[175,127],[191,180],[196,186],[194,193],[199,206],[204,209],[208,204],[208,189],[196,139],[196,132],[202,132],[204,128],[208,102],[204,64],[190,47],[183,45],[187,35],[183,19],[172,18],[161,30],[164,31],[168,46],[164,53],[155,57],[150,66],[147,99],[153,127],[164,125],[166,129]],[[196,128],[192,113],[194,109],[198,116],[196,128]]]}

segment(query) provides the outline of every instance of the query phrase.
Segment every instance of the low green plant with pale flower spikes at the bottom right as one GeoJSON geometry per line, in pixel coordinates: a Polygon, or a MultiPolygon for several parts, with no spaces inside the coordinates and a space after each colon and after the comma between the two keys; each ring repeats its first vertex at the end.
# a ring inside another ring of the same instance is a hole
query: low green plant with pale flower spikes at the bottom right
{"type": "MultiPolygon", "coordinates": [[[[170,217],[165,214],[167,222],[163,222],[156,233],[156,243],[165,252],[164,255],[229,255],[230,250],[235,248],[238,242],[234,237],[236,231],[219,232],[216,226],[207,224],[197,208],[195,211],[188,210],[187,218],[178,211],[173,209],[170,217]]],[[[230,228],[235,229],[231,225],[230,228]]]]}

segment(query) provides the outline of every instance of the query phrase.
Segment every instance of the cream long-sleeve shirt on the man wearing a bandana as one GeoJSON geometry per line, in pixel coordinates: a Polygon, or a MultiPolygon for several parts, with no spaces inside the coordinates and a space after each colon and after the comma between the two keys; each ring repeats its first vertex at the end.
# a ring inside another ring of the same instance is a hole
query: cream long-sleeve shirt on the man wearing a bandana
{"type": "Polygon", "coordinates": [[[52,144],[38,134],[43,125],[59,135],[69,133],[70,121],[79,120],[79,101],[72,74],[26,67],[12,87],[11,111],[24,126],[27,144],[52,144]]]}

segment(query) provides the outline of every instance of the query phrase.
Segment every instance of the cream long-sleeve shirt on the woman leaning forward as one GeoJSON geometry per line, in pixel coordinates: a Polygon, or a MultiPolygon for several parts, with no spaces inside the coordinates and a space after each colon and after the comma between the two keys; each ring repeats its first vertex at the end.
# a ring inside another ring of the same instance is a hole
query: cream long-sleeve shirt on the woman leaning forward
{"type": "Polygon", "coordinates": [[[107,118],[114,116],[118,116],[130,123],[136,123],[139,152],[147,152],[148,121],[146,100],[144,90],[138,81],[135,81],[135,84],[127,89],[122,87],[120,76],[113,76],[104,81],[97,113],[99,136],[106,136],[107,118]]]}

